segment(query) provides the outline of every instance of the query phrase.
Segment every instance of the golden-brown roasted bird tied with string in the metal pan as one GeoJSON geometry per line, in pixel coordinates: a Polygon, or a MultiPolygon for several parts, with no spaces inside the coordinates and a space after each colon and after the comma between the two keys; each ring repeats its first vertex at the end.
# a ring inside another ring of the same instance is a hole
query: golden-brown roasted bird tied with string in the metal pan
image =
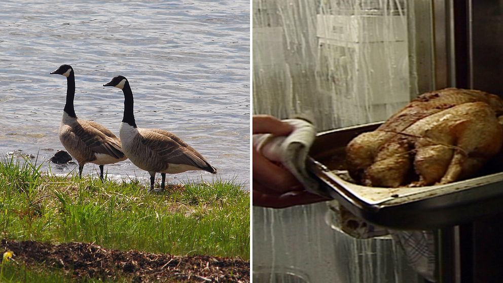
{"type": "Polygon", "coordinates": [[[503,144],[503,100],[448,88],[411,101],[373,132],[346,147],[351,177],[366,186],[446,184],[468,178],[503,144]]]}

